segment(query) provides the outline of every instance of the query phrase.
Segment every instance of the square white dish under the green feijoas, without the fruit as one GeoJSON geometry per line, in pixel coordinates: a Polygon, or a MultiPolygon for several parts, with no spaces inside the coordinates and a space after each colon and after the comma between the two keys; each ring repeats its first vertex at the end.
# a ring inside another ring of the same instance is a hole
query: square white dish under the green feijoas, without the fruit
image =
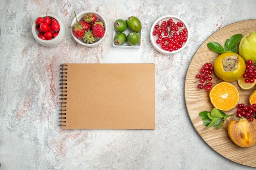
{"type": "MultiPolygon", "coordinates": [[[[127,21],[127,20],[125,20],[125,21],[127,21]]],[[[115,22],[116,22],[116,20],[113,22],[113,24],[115,22]]],[[[140,22],[141,22],[141,28],[143,28],[142,21],[140,21],[140,22]]],[[[130,32],[132,32],[132,31],[129,28],[127,28],[126,31],[124,31],[123,33],[125,33],[126,36],[127,36],[130,32]]],[[[123,49],[139,49],[139,48],[141,48],[141,46],[142,46],[142,42],[141,42],[141,40],[142,40],[142,29],[141,29],[141,31],[138,32],[138,34],[140,36],[140,42],[136,46],[130,46],[127,42],[125,42],[123,45],[116,45],[114,43],[114,37],[115,37],[115,35],[117,33],[118,32],[115,31],[115,29],[113,29],[113,38],[112,38],[112,45],[113,45],[113,47],[115,47],[115,48],[123,48],[123,49]]]]}

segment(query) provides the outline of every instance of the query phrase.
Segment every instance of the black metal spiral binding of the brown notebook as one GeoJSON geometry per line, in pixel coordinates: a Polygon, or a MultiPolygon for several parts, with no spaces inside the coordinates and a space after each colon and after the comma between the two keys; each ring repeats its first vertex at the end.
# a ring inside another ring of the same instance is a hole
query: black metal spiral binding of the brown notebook
{"type": "Polygon", "coordinates": [[[59,123],[61,123],[61,124],[59,124],[58,126],[66,126],[65,124],[63,124],[63,123],[66,123],[66,120],[64,120],[64,119],[66,119],[66,116],[65,115],[67,115],[67,113],[66,113],[66,111],[67,111],[67,109],[66,109],[66,105],[65,104],[67,104],[67,102],[65,101],[65,100],[67,100],[67,87],[66,87],[66,85],[67,85],[67,68],[64,68],[64,66],[67,66],[67,64],[61,64],[60,65],[61,66],[61,75],[60,75],[60,87],[59,87],[59,92],[60,92],[60,94],[59,94],[59,100],[61,100],[61,102],[59,102],[59,111],[60,111],[60,113],[58,114],[59,115],[59,119],[61,119],[60,121],[58,121],[59,123]]]}

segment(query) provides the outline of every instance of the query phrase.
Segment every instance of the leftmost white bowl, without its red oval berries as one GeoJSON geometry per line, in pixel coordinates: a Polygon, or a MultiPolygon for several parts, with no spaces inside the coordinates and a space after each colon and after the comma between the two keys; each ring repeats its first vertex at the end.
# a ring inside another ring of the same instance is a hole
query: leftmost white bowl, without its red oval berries
{"type": "MultiPolygon", "coordinates": [[[[36,41],[44,46],[56,46],[58,44],[61,44],[61,42],[64,40],[65,35],[66,35],[66,29],[65,29],[65,25],[63,23],[63,21],[58,18],[56,15],[53,14],[44,14],[44,15],[40,15],[38,17],[46,17],[49,16],[50,18],[55,18],[58,23],[60,24],[60,31],[58,33],[58,35],[53,38],[52,40],[43,40],[41,38],[38,37],[38,33],[39,31],[36,30],[36,19],[34,20],[33,24],[32,24],[32,34],[34,36],[34,38],[36,39],[36,41]]],[[[38,18],[36,17],[36,18],[38,18]]]]}

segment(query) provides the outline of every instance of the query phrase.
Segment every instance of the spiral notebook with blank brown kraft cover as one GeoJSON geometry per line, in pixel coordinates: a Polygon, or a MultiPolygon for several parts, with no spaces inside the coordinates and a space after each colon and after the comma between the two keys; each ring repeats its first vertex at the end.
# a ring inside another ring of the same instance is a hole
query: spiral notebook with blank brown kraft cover
{"type": "Polygon", "coordinates": [[[155,64],[61,64],[63,129],[155,129],[155,64]]]}

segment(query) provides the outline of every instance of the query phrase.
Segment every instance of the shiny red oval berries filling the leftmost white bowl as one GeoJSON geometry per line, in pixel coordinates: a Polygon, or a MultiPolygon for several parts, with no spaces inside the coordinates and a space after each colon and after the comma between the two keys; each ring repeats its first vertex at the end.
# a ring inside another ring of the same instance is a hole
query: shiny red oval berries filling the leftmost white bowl
{"type": "Polygon", "coordinates": [[[38,17],[36,18],[36,30],[39,31],[38,37],[42,40],[52,40],[60,31],[60,24],[55,18],[38,17]]]}

